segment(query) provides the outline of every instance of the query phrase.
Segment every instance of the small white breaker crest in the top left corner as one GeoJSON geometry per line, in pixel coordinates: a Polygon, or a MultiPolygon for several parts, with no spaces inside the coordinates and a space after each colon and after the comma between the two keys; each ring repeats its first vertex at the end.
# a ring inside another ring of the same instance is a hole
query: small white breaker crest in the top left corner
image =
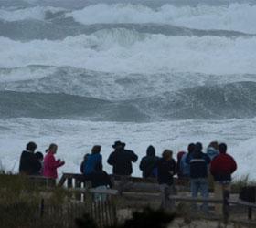
{"type": "Polygon", "coordinates": [[[8,22],[28,19],[45,20],[48,14],[55,14],[59,11],[63,11],[63,9],[51,6],[36,6],[16,10],[0,9],[0,19],[8,22]]]}

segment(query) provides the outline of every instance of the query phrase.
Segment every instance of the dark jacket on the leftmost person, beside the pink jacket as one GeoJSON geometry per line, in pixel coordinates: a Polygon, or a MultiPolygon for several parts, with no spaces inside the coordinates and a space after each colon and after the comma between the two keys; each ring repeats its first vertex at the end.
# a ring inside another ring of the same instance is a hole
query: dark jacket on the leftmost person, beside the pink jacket
{"type": "Polygon", "coordinates": [[[19,173],[26,175],[39,175],[42,169],[40,161],[33,152],[24,150],[19,161],[19,173]]]}

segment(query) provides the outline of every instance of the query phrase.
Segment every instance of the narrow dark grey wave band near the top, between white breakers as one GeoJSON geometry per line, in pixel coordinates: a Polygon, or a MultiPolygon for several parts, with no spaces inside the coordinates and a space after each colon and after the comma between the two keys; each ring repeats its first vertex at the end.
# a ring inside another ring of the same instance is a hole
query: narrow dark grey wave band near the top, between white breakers
{"type": "Polygon", "coordinates": [[[5,22],[0,20],[0,36],[21,41],[33,39],[58,40],[64,39],[67,36],[91,35],[101,30],[110,30],[111,32],[114,29],[126,29],[142,34],[162,34],[165,36],[255,36],[229,30],[200,30],[155,23],[80,25],[73,22],[72,19],[69,20],[69,18],[54,19],[50,22],[39,20],[5,22]]]}

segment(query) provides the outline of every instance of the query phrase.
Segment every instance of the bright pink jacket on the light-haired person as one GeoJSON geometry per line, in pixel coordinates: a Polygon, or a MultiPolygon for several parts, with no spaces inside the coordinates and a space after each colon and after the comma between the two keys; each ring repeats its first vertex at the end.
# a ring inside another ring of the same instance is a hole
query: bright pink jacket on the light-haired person
{"type": "Polygon", "coordinates": [[[64,164],[64,161],[59,161],[55,159],[53,152],[48,151],[48,154],[45,156],[44,159],[44,176],[56,179],[58,177],[57,168],[64,164]]]}

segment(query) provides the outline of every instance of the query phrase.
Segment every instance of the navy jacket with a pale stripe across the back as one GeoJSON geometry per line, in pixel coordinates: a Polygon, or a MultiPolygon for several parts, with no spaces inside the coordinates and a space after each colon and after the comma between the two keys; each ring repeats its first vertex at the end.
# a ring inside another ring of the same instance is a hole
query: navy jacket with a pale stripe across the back
{"type": "Polygon", "coordinates": [[[186,162],[190,165],[190,178],[207,178],[210,158],[202,151],[192,152],[187,156],[186,162]]]}

